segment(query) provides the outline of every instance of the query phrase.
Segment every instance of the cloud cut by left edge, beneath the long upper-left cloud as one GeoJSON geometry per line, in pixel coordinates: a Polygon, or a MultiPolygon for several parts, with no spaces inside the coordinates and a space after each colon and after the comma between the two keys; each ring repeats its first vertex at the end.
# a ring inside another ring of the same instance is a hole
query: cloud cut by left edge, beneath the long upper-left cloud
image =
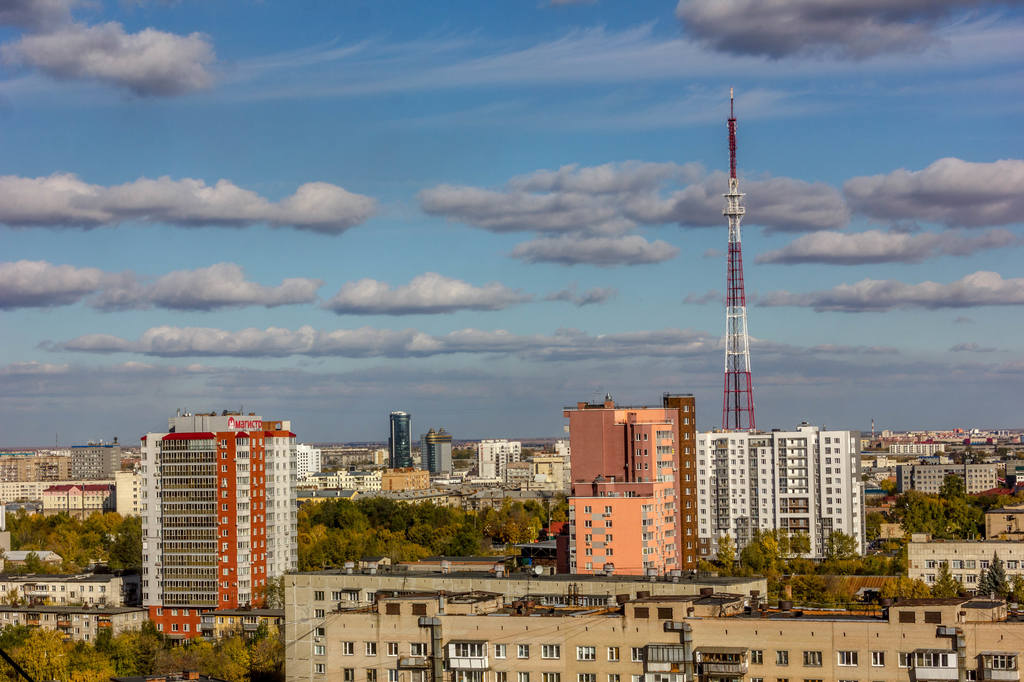
{"type": "Polygon", "coordinates": [[[0,310],[76,303],[95,293],[109,275],[95,267],[53,265],[43,260],[0,263],[0,310]]]}

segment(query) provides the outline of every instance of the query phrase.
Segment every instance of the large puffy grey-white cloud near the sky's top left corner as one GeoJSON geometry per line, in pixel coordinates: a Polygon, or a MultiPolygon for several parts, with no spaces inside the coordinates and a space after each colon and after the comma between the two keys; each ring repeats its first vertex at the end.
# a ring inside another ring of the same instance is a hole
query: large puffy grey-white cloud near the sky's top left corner
{"type": "Polygon", "coordinates": [[[199,33],[178,36],[144,29],[125,33],[116,22],[72,24],[23,36],[0,47],[8,63],[60,80],[94,80],[137,95],[178,95],[213,84],[213,46],[199,33]]]}

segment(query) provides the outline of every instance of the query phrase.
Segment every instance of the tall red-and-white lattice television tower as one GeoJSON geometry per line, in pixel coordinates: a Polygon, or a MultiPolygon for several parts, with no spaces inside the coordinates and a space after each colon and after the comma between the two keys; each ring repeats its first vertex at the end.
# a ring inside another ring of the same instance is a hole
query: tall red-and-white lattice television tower
{"type": "Polygon", "coordinates": [[[743,253],[739,221],[746,210],[736,179],[736,117],[729,88],[729,193],[722,214],[729,219],[729,255],[725,285],[725,390],[722,428],[753,430],[754,385],[751,382],[751,343],[746,336],[746,293],[743,290],[743,253]]]}

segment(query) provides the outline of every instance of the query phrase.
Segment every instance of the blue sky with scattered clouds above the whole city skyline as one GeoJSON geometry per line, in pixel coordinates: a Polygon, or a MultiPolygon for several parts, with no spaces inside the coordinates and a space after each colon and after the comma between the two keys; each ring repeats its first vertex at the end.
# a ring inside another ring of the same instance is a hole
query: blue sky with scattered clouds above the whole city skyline
{"type": "Polygon", "coordinates": [[[1022,426],[1020,0],[0,0],[0,444],[1022,426]]]}

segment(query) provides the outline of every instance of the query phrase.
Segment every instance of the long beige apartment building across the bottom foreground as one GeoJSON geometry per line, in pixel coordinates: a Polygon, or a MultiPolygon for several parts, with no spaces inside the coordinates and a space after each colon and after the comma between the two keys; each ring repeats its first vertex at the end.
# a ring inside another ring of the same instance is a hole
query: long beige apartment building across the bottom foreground
{"type": "MultiPolygon", "coordinates": [[[[735,594],[541,606],[400,593],[286,620],[290,682],[1019,680],[1024,623],[1001,601],[876,612],[762,609],[735,594]]],[[[298,615],[298,613],[296,613],[298,615]]]]}

